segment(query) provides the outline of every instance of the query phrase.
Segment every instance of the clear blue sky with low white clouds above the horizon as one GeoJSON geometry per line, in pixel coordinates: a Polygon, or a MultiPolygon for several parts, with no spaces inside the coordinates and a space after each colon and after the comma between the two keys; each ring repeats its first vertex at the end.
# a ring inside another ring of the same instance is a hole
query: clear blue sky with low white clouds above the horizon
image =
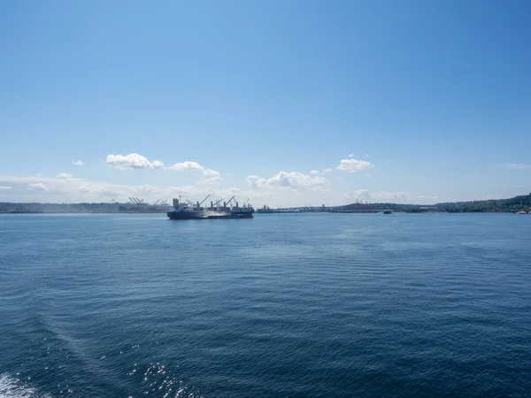
{"type": "Polygon", "coordinates": [[[531,3],[0,2],[0,202],[531,192],[531,3]]]}

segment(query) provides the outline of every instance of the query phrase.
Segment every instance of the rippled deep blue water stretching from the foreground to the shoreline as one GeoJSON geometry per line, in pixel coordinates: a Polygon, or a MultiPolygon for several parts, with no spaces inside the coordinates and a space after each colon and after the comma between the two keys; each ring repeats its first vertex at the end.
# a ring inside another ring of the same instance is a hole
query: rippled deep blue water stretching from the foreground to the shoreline
{"type": "Polygon", "coordinates": [[[531,391],[531,216],[0,216],[0,396],[531,391]]]}

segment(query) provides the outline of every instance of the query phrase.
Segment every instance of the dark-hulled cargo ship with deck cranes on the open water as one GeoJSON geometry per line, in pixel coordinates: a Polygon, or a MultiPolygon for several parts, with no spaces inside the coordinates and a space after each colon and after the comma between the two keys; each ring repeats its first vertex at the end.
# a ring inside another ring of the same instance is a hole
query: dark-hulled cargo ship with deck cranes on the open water
{"type": "Polygon", "coordinates": [[[201,205],[208,199],[210,195],[206,196],[203,202],[187,203],[181,202],[181,196],[173,199],[173,210],[168,211],[167,215],[170,219],[227,219],[227,218],[253,218],[254,209],[249,204],[243,204],[242,207],[235,202],[235,206],[231,206],[235,196],[231,197],[228,202],[219,200],[216,203],[211,202],[210,207],[202,207],[201,205]]]}

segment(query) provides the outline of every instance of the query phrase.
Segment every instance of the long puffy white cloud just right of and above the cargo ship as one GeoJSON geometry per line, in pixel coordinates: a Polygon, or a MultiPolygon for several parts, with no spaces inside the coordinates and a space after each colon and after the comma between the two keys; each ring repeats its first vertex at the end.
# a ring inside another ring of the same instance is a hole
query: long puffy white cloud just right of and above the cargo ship
{"type": "Polygon", "coordinates": [[[251,188],[291,188],[291,189],[314,189],[326,188],[330,180],[326,177],[312,177],[302,172],[279,172],[270,179],[259,178],[256,175],[247,177],[247,183],[251,188]]]}

